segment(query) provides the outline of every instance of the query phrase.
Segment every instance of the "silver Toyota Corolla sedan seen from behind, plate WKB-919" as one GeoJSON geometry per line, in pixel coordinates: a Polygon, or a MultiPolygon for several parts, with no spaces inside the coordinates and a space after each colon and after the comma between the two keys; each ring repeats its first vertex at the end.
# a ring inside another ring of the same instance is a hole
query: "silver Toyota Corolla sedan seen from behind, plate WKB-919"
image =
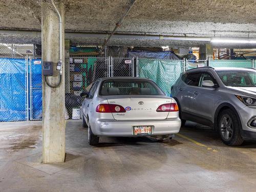
{"type": "Polygon", "coordinates": [[[179,109],[157,84],[136,77],[101,78],[82,103],[82,125],[90,145],[99,136],[153,136],[162,141],[180,130],[179,109]]]}

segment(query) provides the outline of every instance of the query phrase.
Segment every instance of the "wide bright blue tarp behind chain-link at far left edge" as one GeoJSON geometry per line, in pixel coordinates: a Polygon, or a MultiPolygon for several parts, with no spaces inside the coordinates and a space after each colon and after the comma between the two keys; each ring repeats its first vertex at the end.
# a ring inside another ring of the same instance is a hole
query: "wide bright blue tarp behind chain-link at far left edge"
{"type": "Polygon", "coordinates": [[[26,120],[25,59],[0,58],[0,121],[26,120]]]}

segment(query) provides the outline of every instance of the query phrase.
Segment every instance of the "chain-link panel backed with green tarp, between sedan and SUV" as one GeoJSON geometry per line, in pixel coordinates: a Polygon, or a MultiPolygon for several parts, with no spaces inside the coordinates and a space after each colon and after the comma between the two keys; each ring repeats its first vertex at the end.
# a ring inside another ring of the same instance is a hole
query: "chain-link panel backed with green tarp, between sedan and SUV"
{"type": "Polygon", "coordinates": [[[137,76],[155,81],[170,96],[170,87],[182,73],[182,60],[139,59],[137,76]]]}

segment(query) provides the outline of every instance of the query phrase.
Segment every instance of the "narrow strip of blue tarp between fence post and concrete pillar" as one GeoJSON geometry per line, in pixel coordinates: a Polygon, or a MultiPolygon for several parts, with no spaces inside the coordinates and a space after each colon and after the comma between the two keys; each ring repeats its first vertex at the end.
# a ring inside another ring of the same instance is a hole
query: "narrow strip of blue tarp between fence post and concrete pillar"
{"type": "Polygon", "coordinates": [[[40,59],[31,61],[31,82],[32,82],[32,119],[42,118],[42,67],[40,59]]]}

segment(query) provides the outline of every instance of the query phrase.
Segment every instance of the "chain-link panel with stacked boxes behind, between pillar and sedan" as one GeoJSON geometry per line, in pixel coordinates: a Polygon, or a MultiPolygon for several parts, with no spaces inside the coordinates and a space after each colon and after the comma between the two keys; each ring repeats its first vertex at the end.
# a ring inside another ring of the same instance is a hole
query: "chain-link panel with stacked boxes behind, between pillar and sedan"
{"type": "MultiPolygon", "coordinates": [[[[110,76],[110,59],[104,57],[70,57],[70,93],[66,93],[66,119],[80,119],[80,94],[88,93],[98,78],[110,76]]],[[[66,79],[67,81],[67,79],[66,79]]]]}

